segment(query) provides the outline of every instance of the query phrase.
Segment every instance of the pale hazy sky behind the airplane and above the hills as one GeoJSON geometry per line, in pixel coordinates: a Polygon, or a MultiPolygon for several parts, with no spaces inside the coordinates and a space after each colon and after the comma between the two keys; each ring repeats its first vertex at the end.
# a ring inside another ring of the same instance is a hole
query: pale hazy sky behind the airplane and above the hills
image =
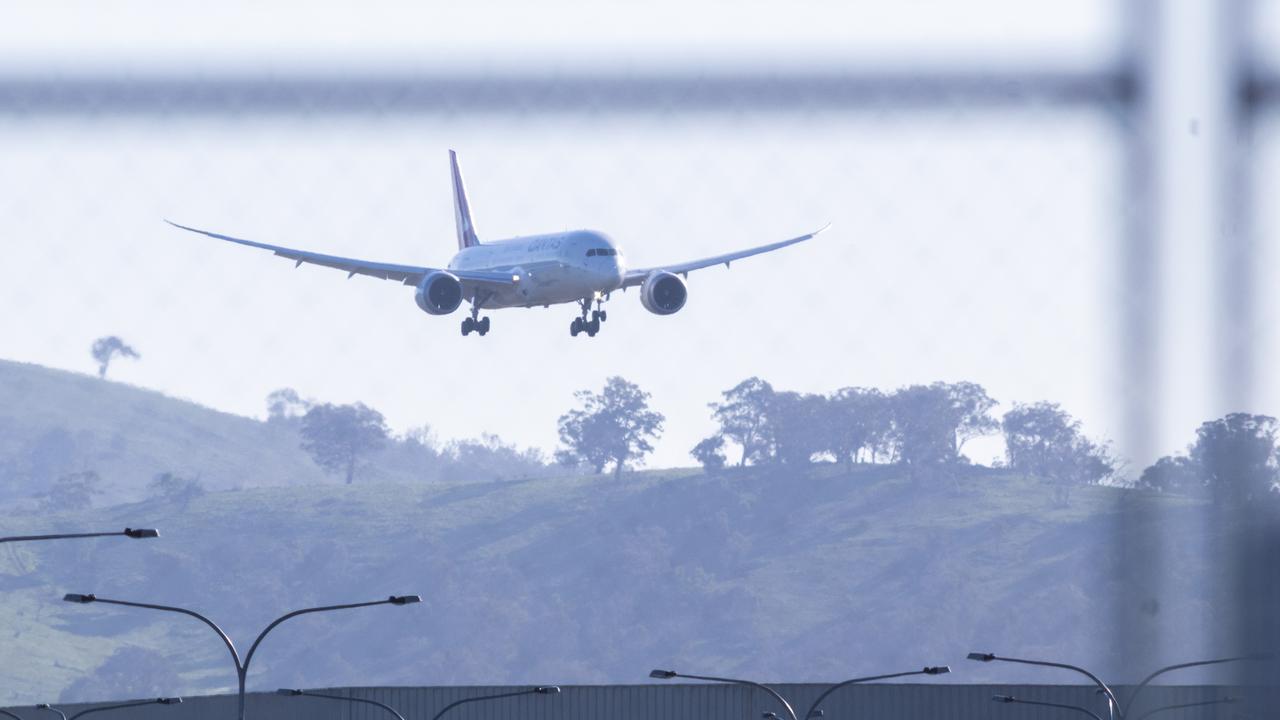
{"type": "MultiPolygon", "coordinates": [[[[0,74],[1096,67],[1117,53],[1111,4],[965,6],[32,4],[0,26],[0,74]]],[[[714,429],[707,404],[750,375],[806,392],[974,380],[1001,410],[1057,401],[1115,439],[1121,141],[1108,111],[1038,106],[0,114],[0,357],[92,372],[92,340],[119,334],[142,360],[113,378],[221,410],[262,416],[293,387],[362,401],[397,430],[548,451],[572,393],[622,375],[667,415],[658,466],[689,464],[714,429]],[[442,265],[448,149],[481,240],[588,227],[654,265],[832,229],[695,273],[673,316],[628,292],[595,338],[568,337],[570,306],[495,311],[489,336],[462,338],[461,313],[428,316],[412,288],[161,222],[442,265]]],[[[1170,350],[1198,340],[1174,333],[1170,350]]],[[[1219,410],[1203,393],[1171,407],[1160,452],[1219,410]]]]}

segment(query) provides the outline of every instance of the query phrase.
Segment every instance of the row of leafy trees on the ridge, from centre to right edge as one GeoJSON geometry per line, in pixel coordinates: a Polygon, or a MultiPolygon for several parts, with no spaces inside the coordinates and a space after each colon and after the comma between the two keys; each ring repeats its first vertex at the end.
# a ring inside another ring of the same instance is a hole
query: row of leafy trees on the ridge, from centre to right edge
{"type": "MultiPolygon", "coordinates": [[[[580,406],[559,419],[561,464],[595,473],[611,468],[618,475],[644,462],[664,420],[649,407],[649,393],[614,377],[600,392],[575,397],[580,406]]],[[[996,416],[997,405],[972,382],[799,393],[753,377],[709,404],[718,429],[690,455],[712,473],[731,462],[891,464],[919,480],[955,478],[957,466],[972,462],[963,454],[968,442],[1002,436],[1005,457],[996,465],[1046,482],[1057,503],[1066,503],[1074,487],[1101,483],[1210,492],[1228,501],[1280,497],[1275,418],[1236,413],[1207,421],[1185,455],[1162,457],[1130,482],[1119,477],[1121,462],[1108,443],[1087,437],[1059,404],[1015,402],[996,416]]]]}

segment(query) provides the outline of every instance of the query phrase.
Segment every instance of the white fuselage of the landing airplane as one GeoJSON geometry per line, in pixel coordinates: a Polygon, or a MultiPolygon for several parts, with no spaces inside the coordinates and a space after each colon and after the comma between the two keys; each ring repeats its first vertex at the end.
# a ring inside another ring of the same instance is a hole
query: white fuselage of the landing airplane
{"type": "Polygon", "coordinates": [[[451,270],[509,272],[520,282],[509,288],[479,291],[481,305],[534,307],[603,297],[622,287],[622,252],[604,233],[570,231],[499,240],[458,250],[451,270]]]}

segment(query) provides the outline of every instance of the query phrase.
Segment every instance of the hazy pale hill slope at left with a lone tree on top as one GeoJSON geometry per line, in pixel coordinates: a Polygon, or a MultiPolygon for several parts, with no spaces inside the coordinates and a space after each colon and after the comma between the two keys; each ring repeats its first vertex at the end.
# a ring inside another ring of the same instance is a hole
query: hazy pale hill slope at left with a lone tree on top
{"type": "Polygon", "coordinates": [[[198,477],[210,489],[332,482],[288,428],[0,360],[0,500],[45,492],[81,470],[102,477],[105,505],[140,500],[157,473],[198,477]]]}

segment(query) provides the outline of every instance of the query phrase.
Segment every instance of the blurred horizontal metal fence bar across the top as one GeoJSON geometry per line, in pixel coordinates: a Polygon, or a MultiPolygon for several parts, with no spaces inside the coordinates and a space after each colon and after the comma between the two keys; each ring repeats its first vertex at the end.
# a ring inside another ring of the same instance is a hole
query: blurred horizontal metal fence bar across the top
{"type": "Polygon", "coordinates": [[[682,74],[0,76],[0,111],[37,114],[580,113],[1124,104],[1126,68],[682,74]]]}

